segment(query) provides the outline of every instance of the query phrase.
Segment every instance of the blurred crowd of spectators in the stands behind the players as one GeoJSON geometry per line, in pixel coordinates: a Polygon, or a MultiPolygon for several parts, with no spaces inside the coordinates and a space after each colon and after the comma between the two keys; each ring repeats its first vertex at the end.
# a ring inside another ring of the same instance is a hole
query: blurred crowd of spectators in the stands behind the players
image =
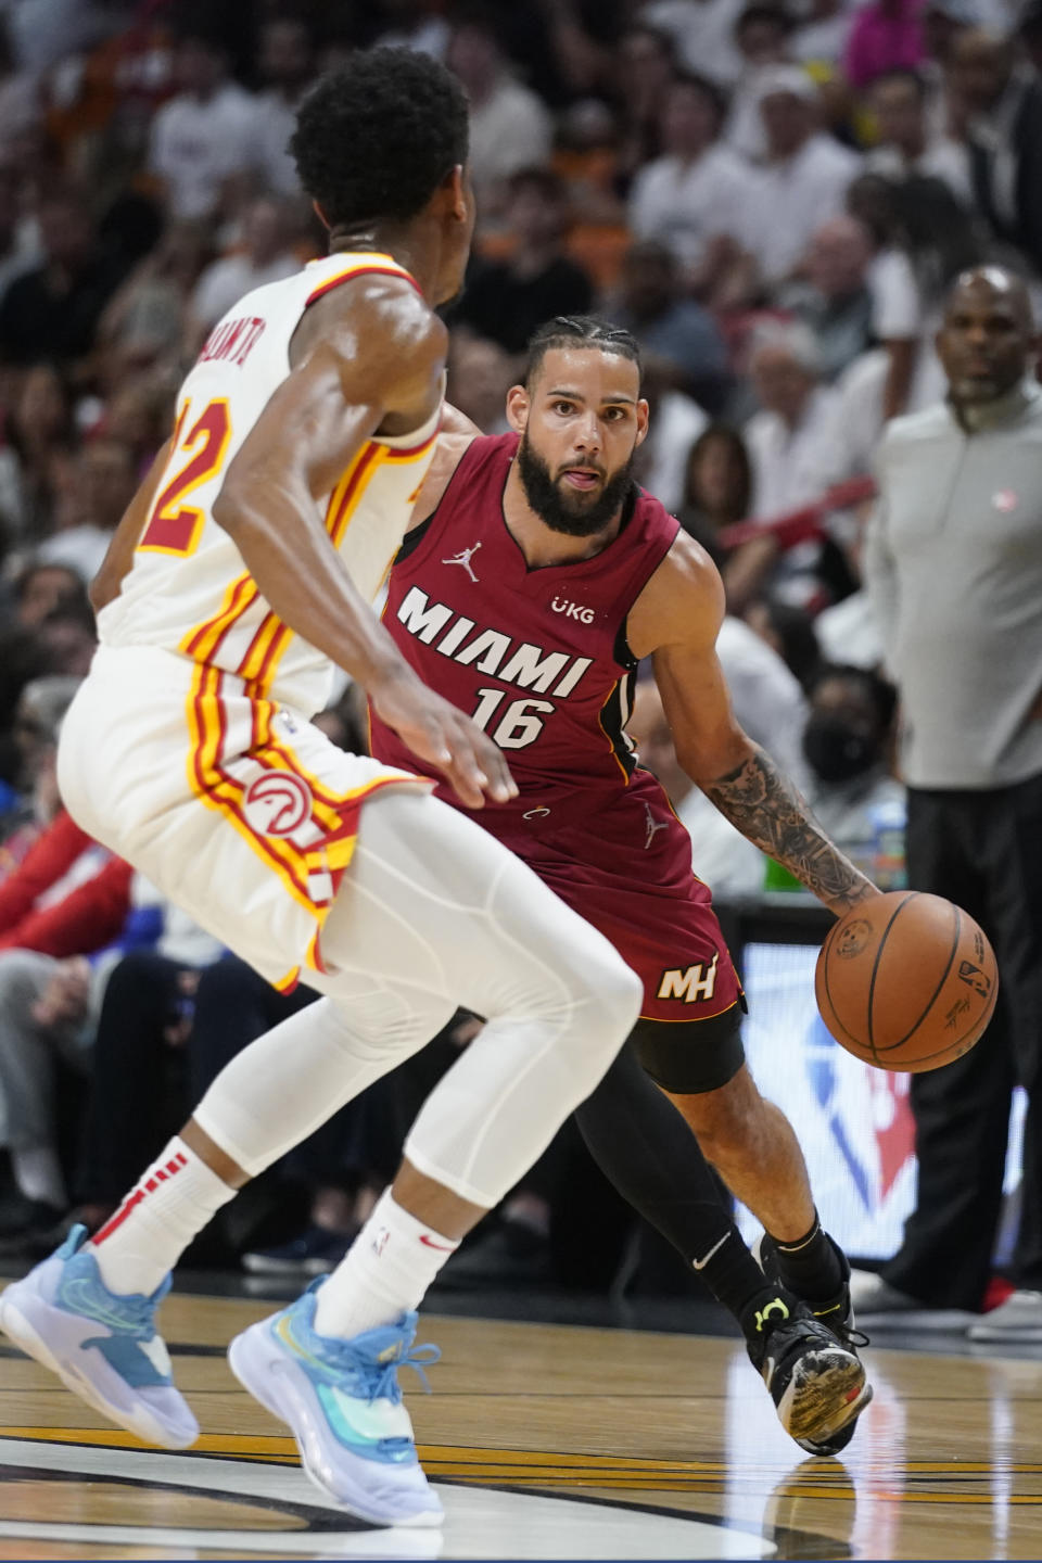
{"type": "MultiPolygon", "coordinates": [[[[100,1222],[225,1058],[309,997],[266,989],[78,832],[55,738],[94,650],[87,583],[180,380],[239,295],[323,253],[295,105],[375,42],[442,58],[472,105],[450,399],[498,433],[541,322],[637,336],[637,475],[720,566],[739,719],[901,883],[858,480],[887,419],[944,395],[951,280],[989,259],[1042,278],[1040,0],[0,0],[0,1250],[70,1207],[100,1222]]],[[[361,744],[350,691],[322,721],[361,744]]],[[[680,772],[651,688],[633,730],[715,894],[790,889],[680,772]]],[[[222,1241],[322,1268],[425,1083],[369,1093],[303,1153],[294,1230],[264,1225],[261,1191],[222,1241]]]]}

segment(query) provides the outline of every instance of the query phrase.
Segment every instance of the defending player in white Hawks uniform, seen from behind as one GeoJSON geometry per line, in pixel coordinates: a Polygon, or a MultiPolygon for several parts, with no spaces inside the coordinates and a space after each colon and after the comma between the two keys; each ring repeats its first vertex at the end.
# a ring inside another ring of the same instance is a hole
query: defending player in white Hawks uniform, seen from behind
{"type": "Polygon", "coordinates": [[[292,150],[331,253],[242,299],[187,375],[95,583],[102,644],[59,777],[91,835],[272,983],[306,972],[327,997],[241,1053],[112,1221],[3,1293],[0,1324],[141,1438],[191,1444],[155,1329],[169,1271],[236,1188],[464,1003],[487,1025],[350,1254],[230,1349],[325,1491],[378,1524],[436,1524],[397,1382],[425,1360],[414,1310],[600,1080],[641,983],[428,782],[309,722],[336,663],[464,803],[516,792],[369,606],[441,417],[433,309],[473,228],[466,100],[423,55],[355,55],[303,103],[292,150]]]}

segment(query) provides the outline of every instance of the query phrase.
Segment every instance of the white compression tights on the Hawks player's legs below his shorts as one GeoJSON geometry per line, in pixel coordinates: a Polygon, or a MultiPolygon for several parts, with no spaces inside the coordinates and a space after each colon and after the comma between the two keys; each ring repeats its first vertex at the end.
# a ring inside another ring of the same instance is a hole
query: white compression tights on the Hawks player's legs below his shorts
{"type": "MultiPolygon", "coordinates": [[[[592,1091],[641,983],[608,941],[473,821],[391,789],[362,811],[322,933],[327,997],[252,1043],[195,1119],[256,1175],[448,1021],[487,1018],[423,1105],[405,1153],[492,1207],[592,1091]]],[[[308,978],[312,982],[312,978],[308,978]]]]}

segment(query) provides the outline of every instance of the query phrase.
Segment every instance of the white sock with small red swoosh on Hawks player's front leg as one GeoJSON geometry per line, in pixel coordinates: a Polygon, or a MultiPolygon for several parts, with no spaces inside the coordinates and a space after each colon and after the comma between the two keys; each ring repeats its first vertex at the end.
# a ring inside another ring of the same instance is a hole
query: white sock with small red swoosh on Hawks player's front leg
{"type": "Polygon", "coordinates": [[[319,1288],[319,1335],[350,1339],[419,1307],[459,1241],[423,1225],[386,1188],[333,1274],[319,1288]]]}

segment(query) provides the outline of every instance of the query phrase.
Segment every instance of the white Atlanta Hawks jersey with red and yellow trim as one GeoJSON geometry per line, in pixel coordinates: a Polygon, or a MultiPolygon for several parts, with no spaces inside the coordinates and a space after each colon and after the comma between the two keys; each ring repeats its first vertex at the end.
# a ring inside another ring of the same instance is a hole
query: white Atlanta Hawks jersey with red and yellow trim
{"type": "MultiPolygon", "coordinates": [[[[389,255],[330,255],[247,294],[217,322],[181,386],[170,460],[133,566],[98,617],[105,646],[180,652],[305,716],[327,703],[330,661],[272,613],[212,505],[239,445],[289,375],[289,342],[308,305],[372,272],[412,281],[389,255]]],[[[409,522],[439,420],[441,408],[408,436],[364,444],[320,503],[333,544],[370,602],[409,522]]]]}

